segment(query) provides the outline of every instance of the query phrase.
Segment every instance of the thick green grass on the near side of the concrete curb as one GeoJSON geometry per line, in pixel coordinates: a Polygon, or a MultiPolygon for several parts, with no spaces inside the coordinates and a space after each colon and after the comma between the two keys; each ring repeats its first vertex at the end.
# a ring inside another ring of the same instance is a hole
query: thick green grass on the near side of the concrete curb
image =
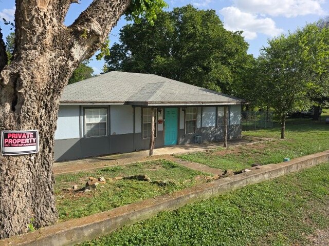
{"type": "Polygon", "coordinates": [[[329,227],[329,163],[189,204],[82,245],[309,245],[329,227]]]}

